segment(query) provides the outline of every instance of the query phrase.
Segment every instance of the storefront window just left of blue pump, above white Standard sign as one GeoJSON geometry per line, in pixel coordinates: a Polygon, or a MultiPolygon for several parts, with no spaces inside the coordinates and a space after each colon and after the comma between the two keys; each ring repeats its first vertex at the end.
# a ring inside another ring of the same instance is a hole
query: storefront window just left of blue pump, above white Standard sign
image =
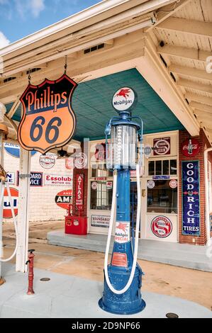
{"type": "Polygon", "coordinates": [[[111,210],[113,188],[107,188],[106,181],[91,181],[91,209],[111,210]],[[93,187],[93,188],[92,188],[93,187]]]}

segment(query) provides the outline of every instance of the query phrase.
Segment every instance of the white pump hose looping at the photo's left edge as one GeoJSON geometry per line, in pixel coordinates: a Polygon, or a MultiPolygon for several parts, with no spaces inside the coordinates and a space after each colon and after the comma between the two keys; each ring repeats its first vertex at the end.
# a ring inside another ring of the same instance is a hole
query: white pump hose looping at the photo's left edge
{"type": "MultiPolygon", "coordinates": [[[[6,181],[6,172],[4,171],[3,167],[1,166],[0,164],[0,170],[1,170],[1,177],[0,177],[0,207],[4,201],[4,186],[3,186],[3,181],[5,182],[6,184],[6,189],[7,189],[7,193],[9,195],[9,203],[10,203],[10,206],[11,206],[11,212],[12,212],[12,217],[13,217],[13,223],[14,223],[14,227],[15,227],[15,232],[16,232],[16,247],[13,251],[13,254],[11,254],[11,256],[7,259],[1,259],[0,258],[0,261],[1,262],[6,262],[6,261],[10,261],[11,259],[13,259],[13,256],[16,255],[16,252],[17,252],[17,249],[18,249],[18,223],[17,223],[17,220],[16,220],[16,215],[15,215],[15,212],[14,212],[14,208],[13,208],[13,203],[12,203],[12,198],[11,198],[11,190],[9,188],[9,184],[7,183],[6,181]],[[3,176],[2,176],[3,175],[3,176]]],[[[1,246],[1,244],[0,244],[1,246]]]]}

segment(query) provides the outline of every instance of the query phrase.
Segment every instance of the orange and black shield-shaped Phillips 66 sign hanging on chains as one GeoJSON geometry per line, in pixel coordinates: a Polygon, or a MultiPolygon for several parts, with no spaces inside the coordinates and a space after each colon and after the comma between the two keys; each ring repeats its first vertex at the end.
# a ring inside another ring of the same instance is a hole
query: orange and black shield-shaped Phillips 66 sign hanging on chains
{"type": "Polygon", "coordinates": [[[60,79],[45,79],[38,86],[29,84],[21,96],[23,115],[18,126],[18,142],[26,150],[42,154],[62,147],[72,139],[76,116],[72,94],[77,83],[63,74],[60,79]]]}

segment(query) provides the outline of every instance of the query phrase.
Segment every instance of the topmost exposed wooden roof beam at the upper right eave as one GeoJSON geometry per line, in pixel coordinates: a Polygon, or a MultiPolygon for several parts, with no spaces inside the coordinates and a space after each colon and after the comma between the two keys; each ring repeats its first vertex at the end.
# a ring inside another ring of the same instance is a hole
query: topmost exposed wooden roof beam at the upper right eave
{"type": "Polygon", "coordinates": [[[157,28],[165,30],[173,30],[174,33],[189,33],[211,38],[212,23],[189,20],[187,18],[169,17],[167,20],[160,23],[157,28]]]}

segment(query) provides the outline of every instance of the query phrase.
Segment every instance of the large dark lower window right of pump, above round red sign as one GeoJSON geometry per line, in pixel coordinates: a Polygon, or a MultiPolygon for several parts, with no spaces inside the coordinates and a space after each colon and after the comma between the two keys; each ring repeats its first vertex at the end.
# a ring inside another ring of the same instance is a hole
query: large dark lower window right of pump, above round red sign
{"type": "Polygon", "coordinates": [[[169,180],[155,181],[154,188],[147,188],[147,213],[177,214],[177,188],[171,188],[169,180]]]}

